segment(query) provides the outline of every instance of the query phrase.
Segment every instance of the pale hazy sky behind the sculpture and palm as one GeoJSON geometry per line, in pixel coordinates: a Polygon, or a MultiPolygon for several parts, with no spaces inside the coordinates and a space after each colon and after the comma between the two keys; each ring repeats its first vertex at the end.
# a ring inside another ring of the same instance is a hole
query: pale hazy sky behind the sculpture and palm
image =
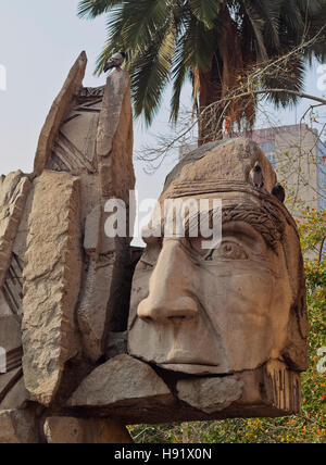
{"type": "MultiPolygon", "coordinates": [[[[77,0],[0,0],[0,65],[7,68],[8,90],[0,90],[0,172],[21,168],[33,169],[34,154],[39,131],[51,103],[82,50],[89,63],[85,86],[101,86],[104,76],[92,75],[96,59],[105,40],[105,18],[79,20],[77,0]]],[[[321,96],[316,70],[308,74],[306,90],[321,96]]],[[[167,96],[168,97],[168,96],[167,96]]],[[[185,104],[190,103],[185,92],[185,104]]],[[[306,105],[306,103],[305,103],[306,105]]],[[[135,147],[153,141],[167,125],[168,98],[155,124],[146,130],[135,124],[135,147]]],[[[301,114],[303,106],[298,110],[301,114]]],[[[294,112],[278,114],[283,124],[294,124],[294,112]]],[[[156,197],[165,175],[172,168],[171,160],[155,174],[143,174],[141,163],[136,163],[137,187],[140,198],[156,197]]],[[[0,173],[0,174],[1,174],[0,173]]]]}

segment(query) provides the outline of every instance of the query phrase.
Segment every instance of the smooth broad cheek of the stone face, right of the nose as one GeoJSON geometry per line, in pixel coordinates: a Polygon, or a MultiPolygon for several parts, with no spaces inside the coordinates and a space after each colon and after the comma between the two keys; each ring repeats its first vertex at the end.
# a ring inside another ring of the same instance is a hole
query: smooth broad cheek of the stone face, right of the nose
{"type": "Polygon", "coordinates": [[[253,369],[281,351],[289,303],[287,280],[271,271],[215,268],[201,281],[202,307],[221,338],[230,370],[253,369]]]}

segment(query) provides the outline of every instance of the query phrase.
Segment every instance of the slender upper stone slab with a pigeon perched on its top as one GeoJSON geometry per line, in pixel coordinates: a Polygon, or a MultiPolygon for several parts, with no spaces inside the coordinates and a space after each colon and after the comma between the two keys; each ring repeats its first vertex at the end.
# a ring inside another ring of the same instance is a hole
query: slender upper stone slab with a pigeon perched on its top
{"type": "Polygon", "coordinates": [[[129,190],[135,186],[133,143],[130,78],[124,71],[114,71],[106,80],[97,136],[103,198],[129,203],[129,190]]]}

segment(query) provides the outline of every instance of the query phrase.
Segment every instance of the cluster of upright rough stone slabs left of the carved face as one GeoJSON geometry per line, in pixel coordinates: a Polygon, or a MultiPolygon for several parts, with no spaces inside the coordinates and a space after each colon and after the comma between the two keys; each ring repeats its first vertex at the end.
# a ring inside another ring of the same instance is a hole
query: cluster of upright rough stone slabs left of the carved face
{"type": "MultiPolygon", "coordinates": [[[[135,186],[130,81],[120,71],[104,87],[84,88],[86,64],[83,52],[52,104],[34,173],[1,178],[0,442],[55,442],[60,419],[40,405],[61,410],[105,359],[111,330],[126,330],[130,239],[105,237],[104,204],[128,203],[135,186]]],[[[79,422],[79,439],[129,438],[113,420],[90,438],[92,422],[79,422]]]]}

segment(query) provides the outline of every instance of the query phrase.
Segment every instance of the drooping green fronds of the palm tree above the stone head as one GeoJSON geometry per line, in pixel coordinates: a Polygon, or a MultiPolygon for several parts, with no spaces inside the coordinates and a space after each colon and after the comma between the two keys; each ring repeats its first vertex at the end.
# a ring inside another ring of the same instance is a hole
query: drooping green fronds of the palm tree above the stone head
{"type": "MultiPolygon", "coordinates": [[[[127,52],[135,114],[143,114],[148,124],[170,81],[171,118],[176,122],[181,88],[189,77],[195,104],[203,110],[237,88],[252,66],[275,60],[303,40],[309,42],[318,35],[318,40],[290,55],[289,73],[263,76],[263,88],[300,91],[306,59],[326,56],[325,0],[80,0],[80,17],[103,13],[108,14],[109,38],[97,72],[102,72],[114,51],[123,48],[127,52]]],[[[286,106],[297,97],[273,92],[268,99],[286,106]]],[[[242,103],[235,103],[228,117],[244,118],[250,126],[255,99],[242,103]]],[[[218,118],[220,125],[223,120],[218,118]]],[[[200,125],[201,142],[211,139],[211,125],[205,120],[200,125]]]]}

